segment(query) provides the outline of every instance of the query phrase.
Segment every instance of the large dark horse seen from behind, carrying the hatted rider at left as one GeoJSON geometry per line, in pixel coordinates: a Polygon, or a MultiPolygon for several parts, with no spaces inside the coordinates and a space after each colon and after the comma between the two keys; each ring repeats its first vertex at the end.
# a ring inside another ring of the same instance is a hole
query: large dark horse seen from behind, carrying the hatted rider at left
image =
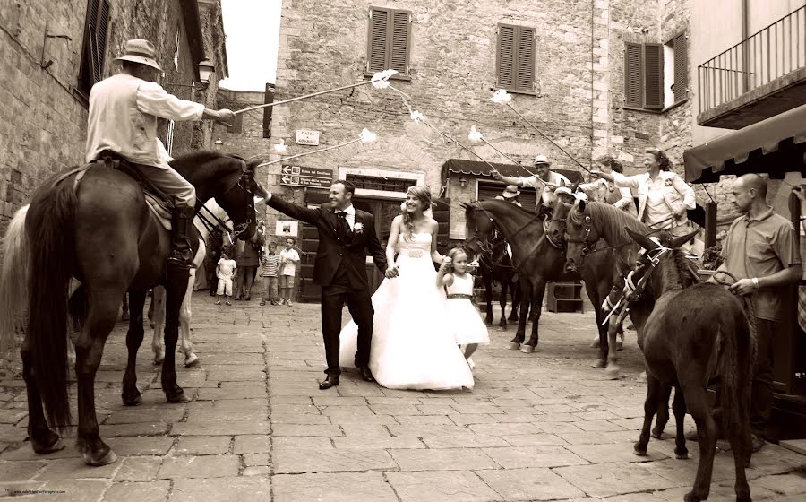
{"type": "MultiPolygon", "coordinates": [[[[81,325],[75,346],[77,446],[84,462],[90,465],[116,461],[116,454],[99,437],[94,385],[104,343],[116,323],[126,291],[130,293],[130,322],[124,403],[141,402],[134,368],[143,338],[146,292],[157,284],[167,286],[162,389],[168,402],[186,401],[182,388],[176,385],[175,359],[178,313],[188,272],[167,267],[167,230],[151,215],[141,186],[132,177],[111,169],[110,163],[105,160],[90,165],[81,171],[83,177],[73,169],[48,180],[34,194],[24,224],[30,254],[30,316],[21,357],[28,390],[31,446],[39,454],[64,447],[61,438],[48,428],[44,411],[50,425],[59,430],[72,422],[66,381],[69,314],[81,325]],[[73,293],[68,309],[72,277],[82,286],[73,293]]],[[[253,234],[253,197],[265,195],[254,180],[254,164],[219,153],[199,152],[171,165],[195,186],[197,211],[203,202],[215,197],[235,221],[241,238],[253,234]]]]}

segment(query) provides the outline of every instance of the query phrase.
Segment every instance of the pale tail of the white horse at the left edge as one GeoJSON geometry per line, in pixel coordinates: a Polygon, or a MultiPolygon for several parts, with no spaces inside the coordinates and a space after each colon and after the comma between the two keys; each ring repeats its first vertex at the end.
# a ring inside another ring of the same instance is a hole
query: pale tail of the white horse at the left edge
{"type": "Polygon", "coordinates": [[[28,307],[28,246],[25,242],[25,215],[22,206],[8,224],[3,238],[3,264],[0,267],[0,354],[12,351],[14,336],[25,325],[28,307]]]}

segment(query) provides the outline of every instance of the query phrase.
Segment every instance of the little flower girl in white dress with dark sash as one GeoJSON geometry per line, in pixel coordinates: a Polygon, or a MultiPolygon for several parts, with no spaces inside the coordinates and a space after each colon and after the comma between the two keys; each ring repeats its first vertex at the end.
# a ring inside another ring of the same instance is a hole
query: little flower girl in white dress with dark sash
{"type": "Polygon", "coordinates": [[[479,343],[490,342],[490,335],[471,301],[473,276],[467,273],[467,253],[461,247],[451,249],[442,260],[442,266],[437,273],[437,287],[444,287],[448,293],[446,306],[448,324],[457,344],[467,345],[465,359],[470,368],[473,368],[470,356],[476,351],[479,343]]]}

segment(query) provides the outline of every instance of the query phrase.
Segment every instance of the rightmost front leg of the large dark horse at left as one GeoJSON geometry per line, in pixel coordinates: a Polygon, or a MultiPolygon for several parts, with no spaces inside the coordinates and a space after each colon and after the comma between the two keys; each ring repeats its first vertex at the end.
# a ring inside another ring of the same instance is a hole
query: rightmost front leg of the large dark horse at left
{"type": "Polygon", "coordinates": [[[176,342],[179,339],[179,310],[187,290],[187,269],[168,266],[165,285],[165,360],[162,362],[162,392],[167,402],[188,402],[184,390],[176,385],[176,342]]]}

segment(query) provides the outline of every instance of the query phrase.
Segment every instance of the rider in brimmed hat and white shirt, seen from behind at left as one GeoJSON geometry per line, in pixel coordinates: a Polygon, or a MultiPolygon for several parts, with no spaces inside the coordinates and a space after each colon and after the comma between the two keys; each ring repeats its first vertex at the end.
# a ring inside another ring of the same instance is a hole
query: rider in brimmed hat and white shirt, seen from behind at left
{"type": "Polygon", "coordinates": [[[173,197],[168,264],[190,268],[193,252],[188,236],[196,193],[193,185],[168,165],[171,159],[157,137],[157,119],[213,119],[226,124],[235,115],[228,109],[211,110],[201,103],[168,94],[155,82],[162,69],[148,40],[127,41],[124,55],[115,60],[121,62],[121,72],[96,83],[90,90],[86,160],[93,162],[107,155],[126,160],[154,186],[173,197]]]}

